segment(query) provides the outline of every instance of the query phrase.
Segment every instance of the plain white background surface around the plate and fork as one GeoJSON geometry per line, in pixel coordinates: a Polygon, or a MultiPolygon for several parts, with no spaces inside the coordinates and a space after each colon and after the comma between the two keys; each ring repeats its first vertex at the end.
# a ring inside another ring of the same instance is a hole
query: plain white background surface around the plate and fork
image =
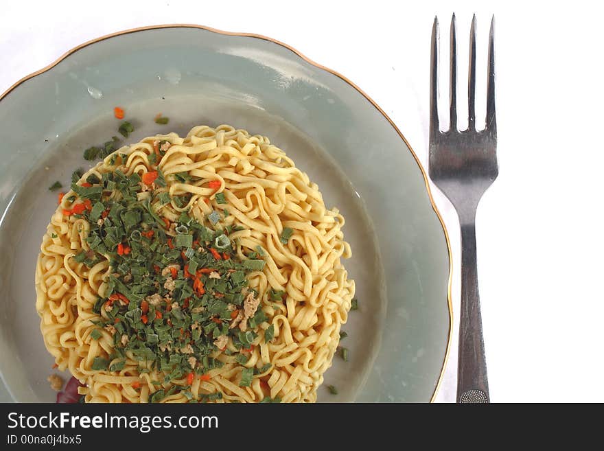
{"type": "MultiPolygon", "coordinates": [[[[484,108],[487,35],[494,13],[500,175],[483,197],[477,218],[491,400],[604,402],[603,10],[595,3],[11,1],[2,5],[0,93],[72,47],[127,28],[197,23],[264,34],[358,84],[427,167],[434,15],[441,21],[446,60],[455,8],[458,97],[463,99],[467,36],[476,12],[477,97],[478,108],[484,108]]],[[[443,102],[446,84],[443,72],[443,102]]],[[[459,109],[461,116],[467,112],[463,102],[459,109]]],[[[443,105],[443,120],[444,110],[443,105]]],[[[432,190],[454,252],[457,318],[458,224],[448,200],[432,190]]],[[[437,401],[454,402],[455,384],[456,340],[437,401]]]]}

